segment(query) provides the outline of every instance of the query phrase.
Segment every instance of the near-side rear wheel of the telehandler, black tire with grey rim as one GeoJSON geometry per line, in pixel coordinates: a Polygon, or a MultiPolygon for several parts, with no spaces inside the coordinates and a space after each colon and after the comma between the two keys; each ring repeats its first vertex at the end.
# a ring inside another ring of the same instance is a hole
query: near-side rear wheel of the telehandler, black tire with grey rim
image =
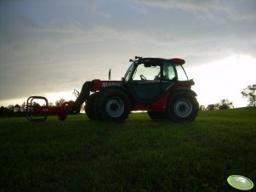
{"type": "Polygon", "coordinates": [[[168,100],[167,110],[171,121],[194,121],[198,114],[199,104],[191,93],[175,93],[168,100]]]}

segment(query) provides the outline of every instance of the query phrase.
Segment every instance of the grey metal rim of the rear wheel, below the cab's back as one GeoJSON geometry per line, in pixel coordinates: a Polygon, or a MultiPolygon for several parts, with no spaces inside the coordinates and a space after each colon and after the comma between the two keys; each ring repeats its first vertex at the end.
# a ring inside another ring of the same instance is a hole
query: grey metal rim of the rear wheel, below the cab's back
{"type": "Polygon", "coordinates": [[[192,104],[188,99],[178,99],[174,104],[174,112],[177,116],[185,118],[191,115],[192,104]]]}

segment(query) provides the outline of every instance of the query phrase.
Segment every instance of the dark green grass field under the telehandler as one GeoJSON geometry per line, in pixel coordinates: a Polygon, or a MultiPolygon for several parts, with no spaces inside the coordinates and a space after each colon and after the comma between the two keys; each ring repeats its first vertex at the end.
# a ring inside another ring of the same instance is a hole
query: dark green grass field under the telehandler
{"type": "MultiPolygon", "coordinates": [[[[194,122],[125,123],[84,115],[0,119],[1,191],[237,191],[256,184],[256,109],[202,111],[194,122]]],[[[255,187],[254,187],[255,189],[255,187]]]]}

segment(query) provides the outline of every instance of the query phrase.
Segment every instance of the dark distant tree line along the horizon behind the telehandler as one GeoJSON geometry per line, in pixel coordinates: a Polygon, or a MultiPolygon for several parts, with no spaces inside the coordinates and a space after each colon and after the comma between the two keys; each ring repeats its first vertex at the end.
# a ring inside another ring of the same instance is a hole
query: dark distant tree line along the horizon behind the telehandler
{"type": "MultiPolygon", "coordinates": [[[[242,97],[247,99],[247,106],[256,106],[256,84],[249,85],[247,88],[242,89],[242,97]]],[[[64,104],[65,99],[56,100],[55,103],[48,103],[48,106],[60,106],[64,104]]],[[[34,102],[33,106],[40,106],[34,102]]],[[[208,104],[207,107],[200,105],[200,110],[227,110],[234,108],[233,102],[229,99],[221,99],[217,104],[208,104]]],[[[84,109],[82,107],[82,109],[84,109]]],[[[26,102],[22,104],[10,104],[8,107],[0,107],[0,116],[25,116],[26,115],[26,102]]]]}

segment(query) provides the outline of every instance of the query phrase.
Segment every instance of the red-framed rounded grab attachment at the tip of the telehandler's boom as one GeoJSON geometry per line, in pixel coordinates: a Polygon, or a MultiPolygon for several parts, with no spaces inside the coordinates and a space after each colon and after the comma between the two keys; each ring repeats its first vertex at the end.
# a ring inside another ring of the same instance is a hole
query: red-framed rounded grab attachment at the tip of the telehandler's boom
{"type": "Polygon", "coordinates": [[[48,99],[42,96],[31,96],[26,100],[26,118],[29,121],[45,121],[47,117],[48,99]]]}

